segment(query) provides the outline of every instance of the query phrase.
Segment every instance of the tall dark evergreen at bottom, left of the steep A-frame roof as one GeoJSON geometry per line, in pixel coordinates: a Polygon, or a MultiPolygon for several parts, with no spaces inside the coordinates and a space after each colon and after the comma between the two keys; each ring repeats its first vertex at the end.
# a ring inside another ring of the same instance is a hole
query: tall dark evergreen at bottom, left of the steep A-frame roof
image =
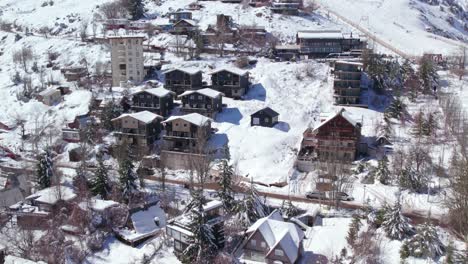
{"type": "Polygon", "coordinates": [[[202,190],[192,192],[192,209],[190,209],[190,231],[188,247],[183,251],[182,263],[210,263],[218,249],[212,226],[207,224],[203,205],[205,204],[202,190]]]}

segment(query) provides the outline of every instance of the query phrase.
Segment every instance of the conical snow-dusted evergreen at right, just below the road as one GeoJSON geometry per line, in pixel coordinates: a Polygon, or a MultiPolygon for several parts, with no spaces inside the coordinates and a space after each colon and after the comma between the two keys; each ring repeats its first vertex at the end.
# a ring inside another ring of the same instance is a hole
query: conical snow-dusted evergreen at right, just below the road
{"type": "Polygon", "coordinates": [[[399,198],[385,214],[385,221],[382,223],[382,227],[391,239],[402,240],[413,233],[413,227],[409,223],[408,218],[403,215],[399,198]]]}

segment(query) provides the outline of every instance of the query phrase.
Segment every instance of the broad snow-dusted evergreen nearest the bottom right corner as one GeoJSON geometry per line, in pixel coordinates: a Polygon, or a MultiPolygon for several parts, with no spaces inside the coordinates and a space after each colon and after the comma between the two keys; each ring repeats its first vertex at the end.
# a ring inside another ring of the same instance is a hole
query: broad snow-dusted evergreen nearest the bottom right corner
{"type": "Polygon", "coordinates": [[[416,229],[416,234],[405,243],[410,256],[417,258],[438,258],[445,252],[445,247],[437,235],[435,227],[426,221],[416,229]]]}

